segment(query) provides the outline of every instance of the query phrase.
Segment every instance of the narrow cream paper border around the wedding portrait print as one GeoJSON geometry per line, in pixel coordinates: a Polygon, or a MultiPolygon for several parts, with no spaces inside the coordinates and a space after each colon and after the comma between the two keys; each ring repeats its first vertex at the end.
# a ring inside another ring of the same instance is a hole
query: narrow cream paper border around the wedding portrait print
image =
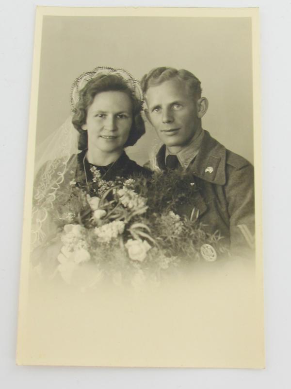
{"type": "MultiPolygon", "coordinates": [[[[253,44],[253,114],[254,114],[254,164],[255,164],[255,190],[256,190],[256,288],[258,318],[263,323],[263,263],[262,263],[262,189],[261,189],[261,126],[260,126],[260,65],[259,65],[259,9],[258,8],[66,8],[66,7],[37,7],[35,19],[34,52],[32,67],[32,89],[30,103],[29,140],[26,162],[26,184],[23,217],[22,259],[19,291],[19,313],[16,363],[23,361],[21,350],[23,347],[23,331],[25,331],[26,311],[28,304],[29,286],[29,252],[31,230],[31,197],[33,184],[33,161],[35,152],[36,114],[38,100],[38,84],[41,59],[41,38],[43,16],[133,16],[133,17],[209,17],[209,18],[252,18],[252,44],[253,44]]],[[[261,328],[263,333],[263,326],[261,328]]],[[[94,366],[92,364],[91,366],[94,366]]],[[[122,366],[122,364],[120,365],[122,366]]],[[[151,365],[153,366],[153,365],[151,365]]],[[[195,366],[203,367],[203,366],[195,366]]],[[[215,366],[213,366],[215,367],[215,366]]],[[[220,364],[217,367],[229,367],[220,364]]],[[[236,366],[242,367],[245,366],[236,366]]],[[[264,346],[258,364],[254,368],[264,368],[264,346]]]]}

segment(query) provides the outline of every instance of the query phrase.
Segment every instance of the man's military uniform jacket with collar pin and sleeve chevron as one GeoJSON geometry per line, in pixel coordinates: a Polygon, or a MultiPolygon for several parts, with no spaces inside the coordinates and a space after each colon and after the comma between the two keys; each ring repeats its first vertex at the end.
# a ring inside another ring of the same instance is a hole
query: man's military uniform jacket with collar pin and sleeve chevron
{"type": "MultiPolygon", "coordinates": [[[[165,145],[156,162],[165,169],[165,145]]],[[[195,215],[209,233],[219,232],[232,253],[254,249],[254,168],[241,156],[227,150],[205,131],[199,152],[187,168],[197,192],[181,205],[178,213],[195,215]]]]}

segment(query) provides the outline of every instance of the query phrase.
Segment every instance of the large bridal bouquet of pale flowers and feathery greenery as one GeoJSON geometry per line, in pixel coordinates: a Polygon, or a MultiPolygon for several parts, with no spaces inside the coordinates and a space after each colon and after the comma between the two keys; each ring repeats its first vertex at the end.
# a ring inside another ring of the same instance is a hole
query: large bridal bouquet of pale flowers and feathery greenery
{"type": "Polygon", "coordinates": [[[62,242],[57,271],[67,283],[86,265],[93,283],[104,277],[159,281],[183,264],[214,261],[225,251],[219,233],[207,234],[195,212],[192,220],[176,213],[196,191],[191,177],[173,172],[104,181],[97,169],[92,173],[90,188],[72,180],[52,210],[62,242]]]}

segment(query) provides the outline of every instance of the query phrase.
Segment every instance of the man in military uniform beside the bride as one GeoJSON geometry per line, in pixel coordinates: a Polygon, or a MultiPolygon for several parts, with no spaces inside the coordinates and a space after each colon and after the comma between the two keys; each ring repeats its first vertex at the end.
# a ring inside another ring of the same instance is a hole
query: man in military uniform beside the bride
{"type": "Polygon", "coordinates": [[[179,213],[193,215],[207,232],[219,231],[233,253],[254,248],[254,170],[202,129],[208,101],[189,71],[161,67],[142,81],[146,117],[163,142],[158,168],[187,169],[197,187],[179,213]]]}

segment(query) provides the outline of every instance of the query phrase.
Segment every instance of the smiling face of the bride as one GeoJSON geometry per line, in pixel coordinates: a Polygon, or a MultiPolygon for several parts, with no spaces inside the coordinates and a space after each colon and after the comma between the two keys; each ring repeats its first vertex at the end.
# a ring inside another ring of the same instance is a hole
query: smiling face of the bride
{"type": "Polygon", "coordinates": [[[132,124],[132,103],[122,91],[98,93],[87,111],[83,130],[88,131],[88,149],[115,152],[123,149],[132,124]]]}

